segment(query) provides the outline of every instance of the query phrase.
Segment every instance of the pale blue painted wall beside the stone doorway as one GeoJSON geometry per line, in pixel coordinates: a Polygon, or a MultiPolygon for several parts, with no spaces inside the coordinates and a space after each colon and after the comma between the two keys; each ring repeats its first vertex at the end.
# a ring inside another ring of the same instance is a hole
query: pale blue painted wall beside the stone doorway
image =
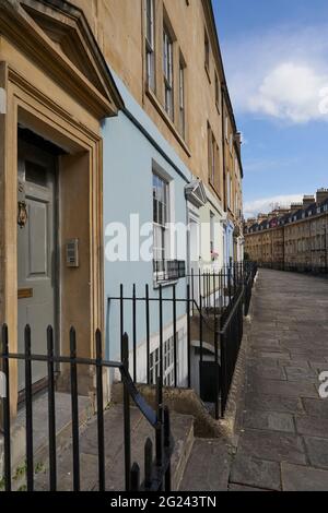
{"type": "MultiPolygon", "coordinates": [[[[115,76],[115,74],[114,74],[115,76]]],[[[104,229],[108,223],[119,222],[129,226],[130,214],[139,213],[140,223],[152,222],[152,163],[156,162],[171,176],[175,183],[175,222],[186,223],[185,186],[191,174],[175,154],[174,150],[161,135],[154,123],[134,102],[120,80],[115,76],[118,88],[124,97],[126,108],[161,146],[167,157],[180,170],[181,176],[164,158],[147,136],[136,127],[125,112],[117,118],[108,119],[103,127],[104,138],[104,229]],[[184,179],[185,178],[185,179],[184,179]]],[[[105,246],[108,238],[105,237],[105,246]]],[[[152,262],[107,262],[105,259],[105,322],[107,339],[107,357],[119,357],[119,302],[107,298],[119,295],[119,286],[124,284],[125,295],[132,295],[132,284],[137,285],[137,295],[144,297],[145,284],[150,286],[150,296],[157,297],[159,290],[153,287],[152,262]]],[[[172,297],[172,287],[163,289],[163,297],[172,297]]],[[[177,285],[177,297],[186,297],[186,279],[177,285]]],[[[186,311],[180,303],[178,315],[186,311]]],[[[132,338],[131,308],[126,307],[125,331],[132,338]]],[[[144,307],[138,309],[138,341],[145,338],[144,307]]],[[[164,324],[172,321],[172,305],[164,303],[164,324]]],[[[151,307],[151,332],[159,331],[159,305],[151,307]]]]}

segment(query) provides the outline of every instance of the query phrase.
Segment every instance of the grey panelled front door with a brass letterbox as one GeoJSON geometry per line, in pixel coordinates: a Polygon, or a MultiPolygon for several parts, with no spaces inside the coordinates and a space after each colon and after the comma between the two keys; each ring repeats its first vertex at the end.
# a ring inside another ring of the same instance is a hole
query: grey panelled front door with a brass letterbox
{"type": "MultiPolygon", "coordinates": [[[[56,332],[56,159],[42,148],[19,143],[19,201],[27,219],[17,227],[19,351],[24,351],[24,327],[31,325],[32,351],[47,351],[47,326],[56,332]],[[28,294],[20,291],[28,290],[28,294]]],[[[33,383],[47,375],[45,363],[33,363],[33,383]]],[[[25,387],[24,366],[19,368],[19,389],[25,387]]]]}

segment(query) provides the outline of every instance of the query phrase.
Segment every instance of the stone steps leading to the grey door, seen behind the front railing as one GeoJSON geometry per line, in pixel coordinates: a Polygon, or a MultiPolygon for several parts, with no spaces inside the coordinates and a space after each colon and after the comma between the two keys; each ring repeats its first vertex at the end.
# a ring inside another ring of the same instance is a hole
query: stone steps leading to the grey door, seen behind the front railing
{"type": "MultiPolygon", "coordinates": [[[[174,455],[172,460],[172,486],[174,490],[179,488],[186,470],[189,454],[194,444],[194,417],[172,414],[172,432],[175,440],[174,455]]],[[[144,475],[143,454],[147,438],[154,442],[154,430],[142,417],[137,408],[131,408],[131,463],[137,462],[144,475]]],[[[124,491],[125,489],[125,445],[122,406],[114,405],[105,411],[105,457],[106,457],[106,490],[124,491]]],[[[81,461],[81,489],[96,491],[97,484],[97,431],[96,419],[91,419],[80,433],[80,461],[81,461]]],[[[58,465],[58,490],[72,490],[72,444],[67,444],[60,452],[58,465]]],[[[141,479],[142,479],[141,477],[141,479]]],[[[47,463],[35,476],[36,490],[48,489],[49,473],[47,463]]]]}

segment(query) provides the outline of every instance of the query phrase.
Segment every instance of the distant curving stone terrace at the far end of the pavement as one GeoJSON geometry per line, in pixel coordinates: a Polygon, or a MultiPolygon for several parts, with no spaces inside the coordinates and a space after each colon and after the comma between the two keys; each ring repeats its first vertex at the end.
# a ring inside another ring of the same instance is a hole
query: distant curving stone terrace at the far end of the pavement
{"type": "Polygon", "coordinates": [[[262,265],[328,272],[328,189],[288,211],[248,219],[245,251],[262,265]]]}

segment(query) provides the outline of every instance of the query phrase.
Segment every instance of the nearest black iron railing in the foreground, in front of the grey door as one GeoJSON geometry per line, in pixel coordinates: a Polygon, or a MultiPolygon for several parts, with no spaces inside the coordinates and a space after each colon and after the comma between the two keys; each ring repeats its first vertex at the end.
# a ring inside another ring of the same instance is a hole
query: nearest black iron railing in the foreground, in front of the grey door
{"type": "Polygon", "coordinates": [[[0,353],[0,363],[5,377],[5,397],[2,398],[3,410],[3,437],[4,437],[4,489],[12,490],[12,446],[11,446],[11,417],[10,417],[10,397],[11,397],[11,374],[10,361],[22,361],[25,369],[25,410],[26,410],[26,488],[33,491],[35,488],[34,470],[34,436],[33,436],[33,386],[32,386],[32,367],[35,362],[47,365],[47,399],[48,416],[45,419],[48,423],[48,455],[49,455],[49,491],[57,491],[58,482],[58,452],[56,439],[56,384],[55,366],[66,363],[70,368],[70,398],[71,398],[71,426],[72,426],[72,476],[73,490],[81,489],[81,462],[80,462],[80,426],[79,426],[79,380],[78,369],[87,367],[94,369],[96,377],[96,421],[97,421],[97,456],[98,456],[98,489],[105,491],[105,426],[104,426],[104,392],[103,392],[103,371],[105,369],[118,369],[124,383],[124,444],[125,444],[125,487],[127,491],[143,490],[165,490],[171,491],[171,458],[173,454],[174,440],[169,429],[169,411],[163,405],[162,382],[157,380],[157,401],[156,411],[154,411],[145,402],[143,396],[136,387],[129,373],[129,339],[127,334],[122,334],[122,360],[106,361],[102,354],[102,333],[95,334],[96,358],[80,358],[78,356],[77,335],[72,327],[70,331],[70,355],[57,356],[54,350],[54,331],[48,327],[47,331],[47,354],[34,355],[32,353],[31,327],[25,327],[25,351],[24,354],[10,353],[10,341],[8,326],[2,326],[2,351],[0,353]],[[145,442],[145,479],[141,487],[137,486],[136,473],[137,464],[131,466],[131,426],[130,426],[130,399],[132,399],[139,410],[154,429],[156,446],[155,458],[152,457],[152,441],[145,442]]]}

